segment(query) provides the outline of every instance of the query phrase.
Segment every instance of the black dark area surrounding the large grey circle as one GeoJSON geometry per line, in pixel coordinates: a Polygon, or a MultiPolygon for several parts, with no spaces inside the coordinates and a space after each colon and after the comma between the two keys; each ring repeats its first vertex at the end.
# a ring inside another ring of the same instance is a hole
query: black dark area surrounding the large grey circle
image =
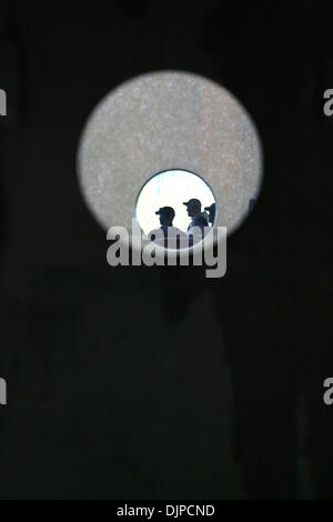
{"type": "Polygon", "coordinates": [[[332,2],[1,4],[0,496],[332,498],[332,2]],[[92,108],[163,69],[229,88],[262,139],[221,280],[111,269],[78,188],[92,108]]]}

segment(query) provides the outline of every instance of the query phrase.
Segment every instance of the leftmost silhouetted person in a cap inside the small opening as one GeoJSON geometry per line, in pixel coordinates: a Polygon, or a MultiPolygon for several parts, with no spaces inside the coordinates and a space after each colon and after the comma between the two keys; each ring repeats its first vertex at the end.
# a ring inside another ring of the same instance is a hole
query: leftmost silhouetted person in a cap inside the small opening
{"type": "Polygon", "coordinates": [[[149,237],[160,247],[179,249],[188,244],[188,237],[176,227],[173,227],[174,210],[172,207],[161,207],[157,212],[160,215],[161,227],[149,233],[149,237]]]}

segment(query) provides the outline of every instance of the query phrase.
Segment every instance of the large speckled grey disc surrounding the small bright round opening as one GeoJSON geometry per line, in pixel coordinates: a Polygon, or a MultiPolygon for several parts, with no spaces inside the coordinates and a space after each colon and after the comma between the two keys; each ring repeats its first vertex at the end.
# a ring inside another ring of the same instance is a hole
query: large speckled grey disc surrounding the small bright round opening
{"type": "Polygon", "coordinates": [[[112,90],[81,137],[82,193],[98,221],[131,229],[138,194],[157,172],[194,172],[211,187],[216,225],[245,219],[261,185],[261,145],[245,109],[198,74],[152,72],[112,90]]]}

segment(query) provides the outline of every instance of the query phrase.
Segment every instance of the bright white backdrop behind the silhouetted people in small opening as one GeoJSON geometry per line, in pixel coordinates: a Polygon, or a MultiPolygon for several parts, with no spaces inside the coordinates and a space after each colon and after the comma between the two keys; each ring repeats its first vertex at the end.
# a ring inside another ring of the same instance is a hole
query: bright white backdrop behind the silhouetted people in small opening
{"type": "Polygon", "coordinates": [[[155,211],[161,207],[172,207],[175,217],[173,225],[186,232],[191,218],[183,204],[196,198],[204,207],[215,202],[209,185],[199,175],[184,170],[169,170],[154,175],[143,187],[137,203],[137,219],[145,234],[160,227],[155,211]]]}

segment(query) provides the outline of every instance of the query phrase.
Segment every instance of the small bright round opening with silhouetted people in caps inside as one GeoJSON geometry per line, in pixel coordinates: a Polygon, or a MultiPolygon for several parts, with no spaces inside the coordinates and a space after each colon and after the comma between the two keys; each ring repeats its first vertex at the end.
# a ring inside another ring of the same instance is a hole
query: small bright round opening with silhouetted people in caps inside
{"type": "MultiPolygon", "coordinates": [[[[180,232],[180,247],[184,248],[188,235],[193,235],[198,242],[213,227],[216,202],[200,175],[172,169],[159,172],[142,187],[135,212],[147,237],[159,241],[159,237],[168,232],[167,239],[172,240],[180,232]]],[[[163,245],[172,248],[171,241],[163,241],[163,245]]]]}

